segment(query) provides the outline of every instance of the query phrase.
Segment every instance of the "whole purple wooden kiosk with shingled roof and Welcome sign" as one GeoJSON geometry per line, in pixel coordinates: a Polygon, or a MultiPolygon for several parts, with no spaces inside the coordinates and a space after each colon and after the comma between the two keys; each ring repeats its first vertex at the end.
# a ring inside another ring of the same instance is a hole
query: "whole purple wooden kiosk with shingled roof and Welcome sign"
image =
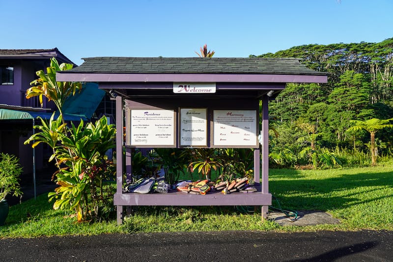
{"type": "Polygon", "coordinates": [[[57,72],[57,81],[96,82],[115,97],[116,155],[127,149],[126,170],[122,158],[116,163],[113,203],[120,224],[123,206],[131,205],[253,205],[262,206],[262,218],[266,218],[272,203],[268,101],[286,83],[327,83],[327,75],[296,58],[97,57],[57,72]],[[258,191],[230,195],[123,192],[123,176],[132,170],[131,148],[154,147],[253,148],[258,191]]]}

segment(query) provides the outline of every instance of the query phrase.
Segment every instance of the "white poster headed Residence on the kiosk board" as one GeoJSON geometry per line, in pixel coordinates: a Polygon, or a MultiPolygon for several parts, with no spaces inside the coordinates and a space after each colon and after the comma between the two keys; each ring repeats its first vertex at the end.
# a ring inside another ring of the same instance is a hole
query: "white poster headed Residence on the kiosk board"
{"type": "Polygon", "coordinates": [[[131,146],[174,146],[175,115],[173,110],[130,110],[131,146]]]}

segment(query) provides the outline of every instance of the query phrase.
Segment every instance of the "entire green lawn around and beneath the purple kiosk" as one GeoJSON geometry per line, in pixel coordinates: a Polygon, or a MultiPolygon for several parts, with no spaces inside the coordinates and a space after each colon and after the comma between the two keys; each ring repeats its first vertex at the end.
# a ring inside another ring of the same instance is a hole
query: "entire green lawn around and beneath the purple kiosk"
{"type": "MultiPolygon", "coordinates": [[[[0,238],[101,233],[185,231],[393,230],[393,165],[332,170],[270,170],[270,192],[283,209],[322,210],[341,220],[336,225],[281,227],[261,221],[260,210],[241,207],[134,207],[117,226],[109,221],[76,223],[71,211],[55,211],[46,194],[10,207],[0,238]]],[[[275,202],[273,202],[275,205],[275,202]]]]}

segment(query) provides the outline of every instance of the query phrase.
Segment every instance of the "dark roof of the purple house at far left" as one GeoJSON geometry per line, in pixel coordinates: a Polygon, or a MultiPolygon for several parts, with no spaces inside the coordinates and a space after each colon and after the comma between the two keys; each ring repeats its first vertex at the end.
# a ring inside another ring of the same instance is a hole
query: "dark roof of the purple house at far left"
{"type": "Polygon", "coordinates": [[[0,58],[24,58],[24,59],[37,59],[37,58],[56,58],[59,62],[72,63],[70,59],[64,56],[57,48],[52,49],[0,49],[0,58]]]}

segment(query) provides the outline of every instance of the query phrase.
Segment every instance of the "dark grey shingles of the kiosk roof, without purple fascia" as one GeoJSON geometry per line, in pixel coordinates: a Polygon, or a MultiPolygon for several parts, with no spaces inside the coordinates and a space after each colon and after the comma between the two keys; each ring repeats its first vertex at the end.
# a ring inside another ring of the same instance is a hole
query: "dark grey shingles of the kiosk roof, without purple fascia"
{"type": "Polygon", "coordinates": [[[75,73],[326,75],[296,58],[83,58],[75,73]]]}

